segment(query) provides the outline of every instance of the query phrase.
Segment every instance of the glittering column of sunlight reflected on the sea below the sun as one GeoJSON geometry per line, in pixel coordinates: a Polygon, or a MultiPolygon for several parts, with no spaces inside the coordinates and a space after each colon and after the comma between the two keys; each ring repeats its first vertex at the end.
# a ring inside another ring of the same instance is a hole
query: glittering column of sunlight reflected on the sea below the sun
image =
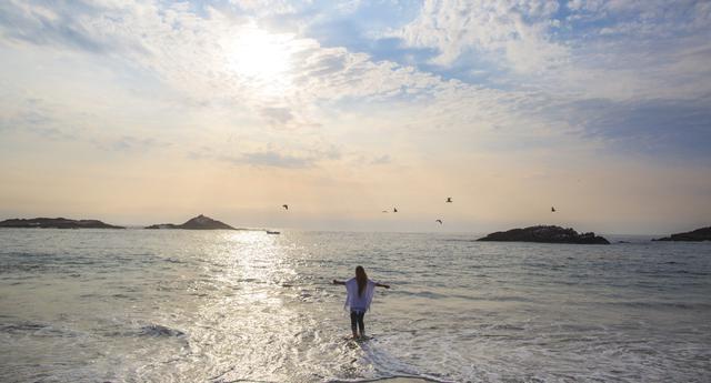
{"type": "Polygon", "coordinates": [[[308,315],[294,310],[297,271],[280,240],[263,232],[228,233],[211,249],[223,265],[213,273],[222,293],[201,308],[206,331],[202,342],[221,379],[289,379],[284,371],[297,369],[294,353],[308,315]],[[229,291],[229,293],[227,293],[229,291]],[[213,339],[221,334],[223,339],[213,339]],[[234,366],[250,366],[249,370],[234,366]]]}

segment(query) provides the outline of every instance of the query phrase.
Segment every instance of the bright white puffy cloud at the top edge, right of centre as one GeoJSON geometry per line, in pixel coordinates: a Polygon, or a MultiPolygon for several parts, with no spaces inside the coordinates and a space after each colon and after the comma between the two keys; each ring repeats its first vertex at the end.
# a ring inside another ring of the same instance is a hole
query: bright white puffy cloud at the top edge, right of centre
{"type": "Polygon", "coordinates": [[[533,72],[565,56],[545,33],[557,10],[555,1],[428,0],[420,16],[395,33],[410,46],[437,48],[432,61],[440,65],[477,51],[500,57],[510,69],[533,72]]]}

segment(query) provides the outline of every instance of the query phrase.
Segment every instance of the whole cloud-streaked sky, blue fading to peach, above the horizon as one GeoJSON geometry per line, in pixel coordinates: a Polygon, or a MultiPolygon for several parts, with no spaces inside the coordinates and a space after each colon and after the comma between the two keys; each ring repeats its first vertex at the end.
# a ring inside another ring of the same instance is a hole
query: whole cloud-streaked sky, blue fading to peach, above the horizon
{"type": "Polygon", "coordinates": [[[711,1],[0,2],[0,219],[200,213],[709,225],[711,1]]]}

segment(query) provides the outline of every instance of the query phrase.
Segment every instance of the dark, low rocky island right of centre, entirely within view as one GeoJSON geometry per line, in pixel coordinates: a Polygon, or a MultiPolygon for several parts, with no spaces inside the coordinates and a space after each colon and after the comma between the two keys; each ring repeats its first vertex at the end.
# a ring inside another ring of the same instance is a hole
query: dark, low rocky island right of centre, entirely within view
{"type": "Polygon", "coordinates": [[[573,229],[563,229],[553,225],[498,231],[480,238],[477,241],[610,244],[608,240],[595,235],[595,233],[578,233],[573,229]]]}

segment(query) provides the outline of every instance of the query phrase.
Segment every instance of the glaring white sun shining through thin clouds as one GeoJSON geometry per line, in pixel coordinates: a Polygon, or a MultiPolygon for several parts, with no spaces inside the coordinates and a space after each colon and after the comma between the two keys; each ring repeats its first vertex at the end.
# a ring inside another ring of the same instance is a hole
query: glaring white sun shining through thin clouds
{"type": "Polygon", "coordinates": [[[289,42],[288,36],[247,28],[232,41],[229,64],[250,85],[267,91],[283,91],[291,78],[289,42]]]}

